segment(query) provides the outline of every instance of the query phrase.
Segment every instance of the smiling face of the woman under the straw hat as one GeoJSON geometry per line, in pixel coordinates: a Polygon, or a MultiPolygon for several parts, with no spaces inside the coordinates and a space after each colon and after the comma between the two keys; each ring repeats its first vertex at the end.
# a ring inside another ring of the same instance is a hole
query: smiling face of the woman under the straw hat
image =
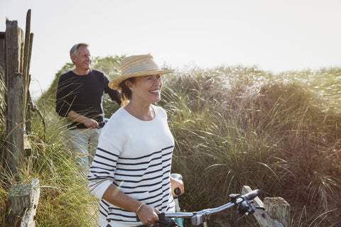
{"type": "Polygon", "coordinates": [[[139,99],[147,103],[155,103],[161,99],[162,79],[161,75],[150,75],[144,77],[135,77],[131,82],[131,99],[139,99]]]}

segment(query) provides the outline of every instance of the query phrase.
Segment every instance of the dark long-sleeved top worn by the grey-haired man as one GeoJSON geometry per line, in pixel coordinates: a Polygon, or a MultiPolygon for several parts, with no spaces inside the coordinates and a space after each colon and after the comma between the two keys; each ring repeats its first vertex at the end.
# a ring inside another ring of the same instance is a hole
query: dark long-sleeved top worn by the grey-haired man
{"type": "MultiPolygon", "coordinates": [[[[108,77],[99,70],[90,70],[87,75],[77,75],[70,70],[61,74],[58,81],[55,111],[66,117],[70,111],[82,114],[98,122],[104,120],[102,109],[103,92],[121,104],[120,93],[110,89],[108,77]]],[[[72,122],[71,126],[87,128],[82,123],[72,122]]]]}

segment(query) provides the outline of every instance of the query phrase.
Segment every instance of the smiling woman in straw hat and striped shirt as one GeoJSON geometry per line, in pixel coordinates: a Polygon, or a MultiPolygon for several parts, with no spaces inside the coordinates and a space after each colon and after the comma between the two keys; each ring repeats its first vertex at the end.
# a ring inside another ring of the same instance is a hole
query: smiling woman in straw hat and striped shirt
{"type": "Polygon", "coordinates": [[[151,226],[160,212],[174,211],[172,193],[183,182],[170,176],[174,140],[160,101],[161,75],[151,55],[121,61],[122,106],[102,129],[90,167],[90,191],[100,199],[99,226],[151,226]],[[141,221],[136,221],[136,218],[141,221]]]}

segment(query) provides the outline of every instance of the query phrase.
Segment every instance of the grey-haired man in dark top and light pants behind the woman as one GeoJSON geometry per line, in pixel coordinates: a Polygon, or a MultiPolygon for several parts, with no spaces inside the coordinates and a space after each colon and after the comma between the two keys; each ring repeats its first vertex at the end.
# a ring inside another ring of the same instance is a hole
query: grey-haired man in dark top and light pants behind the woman
{"type": "Polygon", "coordinates": [[[93,70],[91,55],[86,43],[78,43],[70,50],[75,69],[61,74],[58,81],[55,110],[71,121],[67,138],[77,157],[77,162],[89,167],[104,126],[102,109],[103,92],[121,104],[120,92],[108,87],[108,77],[93,70]]]}

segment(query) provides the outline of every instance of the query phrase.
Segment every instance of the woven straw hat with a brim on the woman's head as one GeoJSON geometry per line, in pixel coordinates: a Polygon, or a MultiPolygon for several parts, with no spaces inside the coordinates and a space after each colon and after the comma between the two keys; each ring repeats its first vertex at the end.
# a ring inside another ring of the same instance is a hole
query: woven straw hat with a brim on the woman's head
{"type": "Polygon", "coordinates": [[[148,55],[132,55],[121,61],[121,75],[109,82],[111,89],[121,89],[119,84],[131,77],[141,77],[156,74],[166,74],[174,72],[174,70],[160,70],[156,65],[151,54],[148,55]]]}

